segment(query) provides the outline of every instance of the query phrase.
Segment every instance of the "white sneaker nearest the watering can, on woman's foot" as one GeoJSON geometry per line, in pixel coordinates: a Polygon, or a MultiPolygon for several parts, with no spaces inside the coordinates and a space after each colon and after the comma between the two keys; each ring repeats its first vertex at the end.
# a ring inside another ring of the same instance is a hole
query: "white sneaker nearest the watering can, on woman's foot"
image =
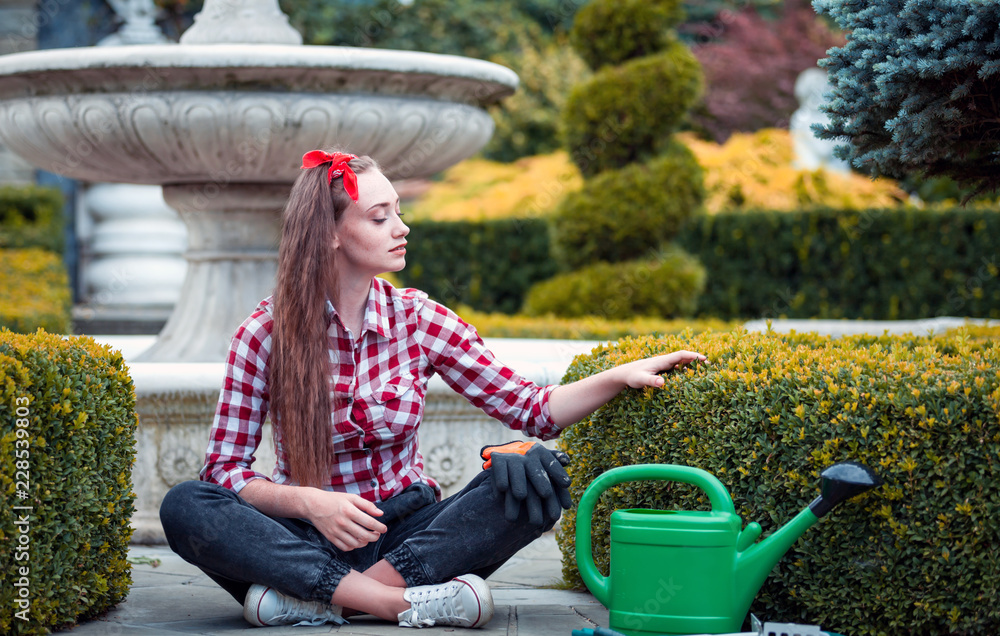
{"type": "Polygon", "coordinates": [[[399,615],[400,627],[482,627],[493,618],[493,595],[486,581],[475,574],[440,585],[408,587],[403,598],[410,602],[410,609],[399,615]]]}

